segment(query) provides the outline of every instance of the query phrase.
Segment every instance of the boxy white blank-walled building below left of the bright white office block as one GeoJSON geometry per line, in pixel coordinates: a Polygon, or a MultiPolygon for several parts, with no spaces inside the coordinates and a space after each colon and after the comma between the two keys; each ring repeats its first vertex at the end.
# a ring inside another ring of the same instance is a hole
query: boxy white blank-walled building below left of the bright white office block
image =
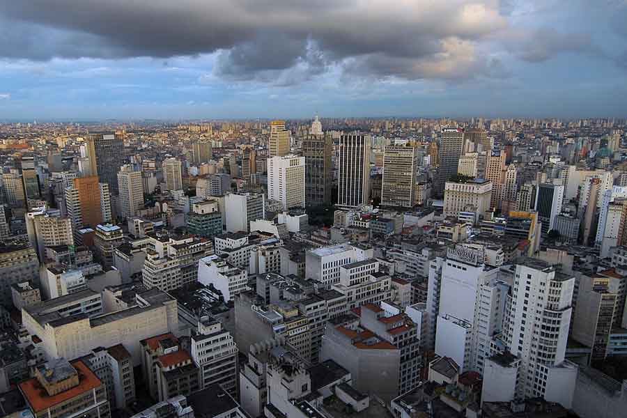
{"type": "Polygon", "coordinates": [[[226,231],[248,232],[251,221],[265,218],[265,195],[230,193],[224,196],[226,231]]]}

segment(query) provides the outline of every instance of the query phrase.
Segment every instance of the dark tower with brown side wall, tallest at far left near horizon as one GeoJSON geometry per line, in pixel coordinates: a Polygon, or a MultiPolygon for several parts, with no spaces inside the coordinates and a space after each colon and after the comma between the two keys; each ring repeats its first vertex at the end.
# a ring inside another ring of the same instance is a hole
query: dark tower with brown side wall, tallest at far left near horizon
{"type": "Polygon", "coordinates": [[[124,143],[118,134],[90,134],[86,142],[90,176],[98,176],[111,191],[118,192],[118,171],[122,167],[124,143]]]}

